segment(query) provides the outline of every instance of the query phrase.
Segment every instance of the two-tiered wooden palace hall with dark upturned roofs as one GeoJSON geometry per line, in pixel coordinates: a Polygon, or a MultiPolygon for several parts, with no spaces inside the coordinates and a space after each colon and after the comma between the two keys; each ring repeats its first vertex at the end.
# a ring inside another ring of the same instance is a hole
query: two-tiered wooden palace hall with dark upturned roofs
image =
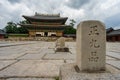
{"type": "Polygon", "coordinates": [[[20,25],[28,30],[30,37],[63,36],[65,27],[69,26],[65,24],[68,17],[61,17],[60,14],[35,13],[23,17],[28,23],[20,25]]]}

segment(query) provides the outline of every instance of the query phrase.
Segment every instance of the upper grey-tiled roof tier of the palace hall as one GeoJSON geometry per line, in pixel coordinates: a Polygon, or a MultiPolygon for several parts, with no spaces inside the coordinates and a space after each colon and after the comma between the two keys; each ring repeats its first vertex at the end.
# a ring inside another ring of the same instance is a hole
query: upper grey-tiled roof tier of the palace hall
{"type": "Polygon", "coordinates": [[[60,22],[62,24],[65,24],[68,17],[60,17],[60,14],[39,14],[35,13],[34,16],[25,16],[23,17],[31,22],[60,22]]]}

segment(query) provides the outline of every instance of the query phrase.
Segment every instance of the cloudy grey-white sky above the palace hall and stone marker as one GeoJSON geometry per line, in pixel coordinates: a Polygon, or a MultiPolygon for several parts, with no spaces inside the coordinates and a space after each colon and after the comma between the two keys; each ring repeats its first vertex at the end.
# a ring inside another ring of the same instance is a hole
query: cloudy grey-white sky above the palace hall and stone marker
{"type": "Polygon", "coordinates": [[[24,20],[22,15],[37,13],[57,14],[76,21],[100,20],[106,28],[120,29],[120,0],[0,0],[0,29],[7,22],[18,23],[24,20]]]}

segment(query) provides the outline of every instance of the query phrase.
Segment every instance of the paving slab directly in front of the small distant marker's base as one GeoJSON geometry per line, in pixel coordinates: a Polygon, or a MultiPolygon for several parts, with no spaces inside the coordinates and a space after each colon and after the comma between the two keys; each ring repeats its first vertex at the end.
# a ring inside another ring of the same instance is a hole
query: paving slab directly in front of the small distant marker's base
{"type": "Polygon", "coordinates": [[[47,53],[43,59],[45,60],[74,60],[75,55],[69,52],[47,53]]]}

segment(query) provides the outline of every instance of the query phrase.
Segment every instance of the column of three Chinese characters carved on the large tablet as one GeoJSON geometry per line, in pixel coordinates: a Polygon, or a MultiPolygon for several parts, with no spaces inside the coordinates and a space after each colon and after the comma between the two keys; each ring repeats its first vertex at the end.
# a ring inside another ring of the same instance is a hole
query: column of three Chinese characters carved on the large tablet
{"type": "Polygon", "coordinates": [[[88,60],[90,62],[98,62],[99,57],[98,57],[97,51],[95,51],[95,49],[98,49],[100,47],[100,45],[95,37],[99,36],[100,34],[98,32],[97,25],[90,27],[90,32],[88,35],[91,37],[89,45],[92,50],[92,52],[90,52],[90,57],[88,58],[88,60]]]}

